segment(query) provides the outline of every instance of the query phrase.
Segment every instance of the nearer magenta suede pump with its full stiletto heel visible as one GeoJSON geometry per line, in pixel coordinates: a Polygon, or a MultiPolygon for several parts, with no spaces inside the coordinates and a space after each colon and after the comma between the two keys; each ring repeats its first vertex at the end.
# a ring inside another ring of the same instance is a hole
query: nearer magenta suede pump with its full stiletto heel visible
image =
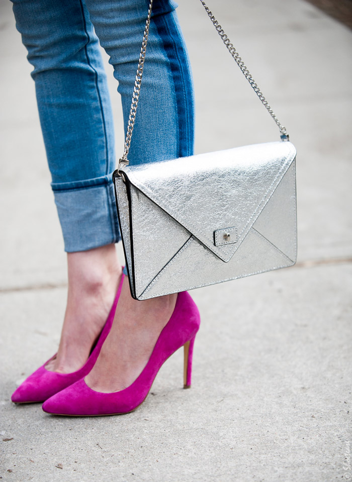
{"type": "Polygon", "coordinates": [[[82,378],[49,398],[43,410],[55,415],[118,415],[135,410],[147,397],[165,360],[181,346],[185,347],[184,388],[191,386],[192,355],[199,329],[198,308],[187,292],[179,293],[171,318],[162,329],[148,363],[139,377],[120,392],[101,393],[88,387],[82,378]]]}

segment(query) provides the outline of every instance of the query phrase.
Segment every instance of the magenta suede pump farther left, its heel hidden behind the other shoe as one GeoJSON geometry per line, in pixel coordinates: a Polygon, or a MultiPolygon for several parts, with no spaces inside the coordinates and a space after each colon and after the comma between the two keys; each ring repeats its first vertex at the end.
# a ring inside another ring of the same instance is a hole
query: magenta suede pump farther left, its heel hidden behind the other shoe
{"type": "Polygon", "coordinates": [[[98,338],[96,345],[94,346],[89,358],[79,370],[73,373],[57,373],[49,372],[46,370],[45,366],[52,360],[52,356],[44,365],[42,365],[38,370],[36,370],[32,375],[30,375],[13,393],[11,400],[14,403],[33,403],[33,402],[44,402],[46,399],[55,395],[55,393],[60,392],[77,380],[85,377],[92,370],[94,364],[97,361],[100,350],[109,331],[112,327],[117,302],[119,301],[122,284],[125,275],[122,274],[121,281],[115,296],[113,306],[110,310],[109,316],[105,322],[104,328],[98,338]]]}

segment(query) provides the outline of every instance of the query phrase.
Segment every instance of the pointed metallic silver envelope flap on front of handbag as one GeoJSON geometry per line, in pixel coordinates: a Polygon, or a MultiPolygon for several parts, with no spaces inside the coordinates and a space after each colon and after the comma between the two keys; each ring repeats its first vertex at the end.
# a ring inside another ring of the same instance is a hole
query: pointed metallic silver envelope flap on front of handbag
{"type": "Polygon", "coordinates": [[[295,157],[293,144],[279,141],[129,166],[124,173],[228,262],[295,157]]]}

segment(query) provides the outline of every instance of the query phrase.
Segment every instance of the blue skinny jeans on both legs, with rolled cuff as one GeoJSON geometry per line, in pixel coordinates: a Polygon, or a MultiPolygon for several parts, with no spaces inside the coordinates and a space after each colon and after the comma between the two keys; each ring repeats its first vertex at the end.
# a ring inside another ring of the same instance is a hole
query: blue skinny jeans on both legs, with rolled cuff
{"type": "MultiPolygon", "coordinates": [[[[12,2],[34,67],[65,251],[117,243],[114,126],[99,42],[114,67],[126,132],[149,0],[12,2]]],[[[193,86],[175,7],[154,0],[131,164],[193,154],[193,86]]]]}

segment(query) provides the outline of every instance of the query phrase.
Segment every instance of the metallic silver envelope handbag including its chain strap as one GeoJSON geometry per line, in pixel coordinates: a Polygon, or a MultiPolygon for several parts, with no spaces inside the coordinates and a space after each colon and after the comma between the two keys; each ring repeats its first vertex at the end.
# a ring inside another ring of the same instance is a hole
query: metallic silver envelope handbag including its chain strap
{"type": "Polygon", "coordinates": [[[296,149],[221,26],[200,1],[279,127],[281,141],[127,167],[151,0],[125,151],[114,172],[131,294],[137,300],[296,262],[296,149]]]}

